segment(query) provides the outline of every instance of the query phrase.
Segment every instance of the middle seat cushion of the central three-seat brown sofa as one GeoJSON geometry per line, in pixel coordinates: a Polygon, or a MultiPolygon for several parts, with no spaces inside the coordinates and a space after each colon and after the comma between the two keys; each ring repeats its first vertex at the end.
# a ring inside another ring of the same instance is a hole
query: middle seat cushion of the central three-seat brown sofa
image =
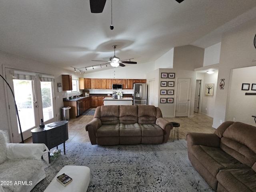
{"type": "Polygon", "coordinates": [[[138,123],[120,124],[120,137],[141,136],[141,128],[138,123]]]}

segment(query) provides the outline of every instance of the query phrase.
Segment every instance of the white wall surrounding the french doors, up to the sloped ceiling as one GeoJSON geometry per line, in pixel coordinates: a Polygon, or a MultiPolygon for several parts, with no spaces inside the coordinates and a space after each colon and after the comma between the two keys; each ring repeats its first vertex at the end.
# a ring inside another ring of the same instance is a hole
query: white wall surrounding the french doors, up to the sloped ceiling
{"type": "MultiPolygon", "coordinates": [[[[65,70],[62,68],[56,68],[51,65],[47,65],[41,62],[37,62],[35,60],[22,58],[20,56],[16,56],[13,54],[8,54],[6,52],[0,51],[0,74],[4,76],[5,71],[4,68],[14,68],[19,70],[26,70],[31,72],[38,72],[38,73],[44,73],[44,74],[52,74],[54,75],[54,88],[55,88],[55,96],[56,96],[56,111],[57,111],[57,117],[54,118],[53,121],[61,120],[62,118],[62,109],[63,107],[63,99],[65,97],[66,91],[58,92],[57,83],[62,83],[62,74],[70,74],[72,75],[72,78],[79,78],[82,77],[82,74],[72,72],[69,70],[65,70]]],[[[10,82],[8,82],[10,84],[10,82]]],[[[6,84],[4,83],[4,80],[0,80],[0,102],[1,102],[1,108],[0,108],[0,130],[8,130],[9,133],[11,130],[10,128],[10,118],[9,118],[9,110],[7,109],[6,102],[8,101],[6,90],[9,89],[6,84]]],[[[11,96],[9,96],[11,97],[11,96]]],[[[12,99],[9,99],[10,109],[15,110],[14,101],[12,99]]],[[[15,113],[16,114],[16,113],[15,113]]],[[[39,122],[38,122],[39,125],[39,122]]],[[[18,129],[18,128],[17,128],[18,129]]]]}

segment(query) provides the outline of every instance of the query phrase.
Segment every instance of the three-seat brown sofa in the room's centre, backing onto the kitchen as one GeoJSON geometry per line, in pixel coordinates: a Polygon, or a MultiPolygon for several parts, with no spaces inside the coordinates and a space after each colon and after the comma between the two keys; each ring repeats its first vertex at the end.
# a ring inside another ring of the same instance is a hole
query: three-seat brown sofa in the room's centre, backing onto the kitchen
{"type": "Polygon", "coordinates": [[[168,141],[172,123],[152,105],[106,105],[86,124],[91,144],[160,144],[168,141]]]}

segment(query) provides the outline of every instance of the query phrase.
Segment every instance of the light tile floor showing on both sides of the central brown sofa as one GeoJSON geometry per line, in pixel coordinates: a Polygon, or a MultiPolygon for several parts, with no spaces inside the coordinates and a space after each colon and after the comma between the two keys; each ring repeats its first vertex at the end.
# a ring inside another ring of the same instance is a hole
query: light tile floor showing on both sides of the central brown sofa
{"type": "MultiPolygon", "coordinates": [[[[70,119],[68,122],[68,140],[66,142],[90,142],[88,132],[85,130],[85,125],[92,119],[92,115],[81,115],[75,119],[70,119]]],[[[175,117],[165,119],[170,122],[180,123],[179,139],[186,139],[188,132],[213,133],[216,130],[212,128],[213,118],[204,114],[194,113],[193,118],[175,117]]],[[[171,140],[171,135],[169,139],[171,140]]],[[[175,140],[177,140],[176,135],[175,140]]],[[[32,137],[25,140],[25,143],[32,143],[32,137]]]]}

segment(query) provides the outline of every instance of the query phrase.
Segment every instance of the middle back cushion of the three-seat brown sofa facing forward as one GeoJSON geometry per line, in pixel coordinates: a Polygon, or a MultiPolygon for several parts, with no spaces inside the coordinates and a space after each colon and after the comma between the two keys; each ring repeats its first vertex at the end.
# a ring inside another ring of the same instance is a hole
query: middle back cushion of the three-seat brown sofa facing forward
{"type": "Polygon", "coordinates": [[[120,105],[119,121],[122,124],[138,123],[138,107],[136,105],[120,105]]]}

